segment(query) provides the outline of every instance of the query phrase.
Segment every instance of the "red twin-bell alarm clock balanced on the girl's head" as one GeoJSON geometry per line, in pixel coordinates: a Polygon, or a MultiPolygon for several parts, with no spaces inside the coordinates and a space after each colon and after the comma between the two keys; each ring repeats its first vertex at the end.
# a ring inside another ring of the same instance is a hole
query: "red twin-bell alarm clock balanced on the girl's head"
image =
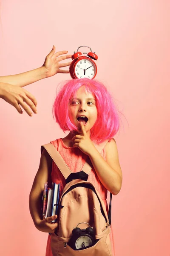
{"type": "Polygon", "coordinates": [[[74,52],[74,54],[71,56],[73,61],[71,62],[69,69],[70,75],[72,79],[84,77],[94,79],[97,73],[97,66],[94,60],[97,60],[98,57],[95,52],[92,52],[90,47],[88,48],[91,50],[91,52],[89,52],[88,54],[86,52],[83,52],[83,54],[87,54],[87,56],[82,56],[82,53],[78,51],[79,48],[77,49],[77,52],[74,52]]]}

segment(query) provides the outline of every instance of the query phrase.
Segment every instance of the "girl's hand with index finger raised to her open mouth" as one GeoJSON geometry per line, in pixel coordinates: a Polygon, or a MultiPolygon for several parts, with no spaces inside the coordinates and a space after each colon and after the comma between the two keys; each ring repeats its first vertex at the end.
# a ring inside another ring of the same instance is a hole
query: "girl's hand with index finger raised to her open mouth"
{"type": "Polygon", "coordinates": [[[83,122],[80,122],[80,127],[82,131],[82,135],[75,135],[72,138],[74,142],[74,147],[79,148],[83,153],[89,155],[92,150],[96,150],[94,144],[91,139],[88,137],[83,122]]]}

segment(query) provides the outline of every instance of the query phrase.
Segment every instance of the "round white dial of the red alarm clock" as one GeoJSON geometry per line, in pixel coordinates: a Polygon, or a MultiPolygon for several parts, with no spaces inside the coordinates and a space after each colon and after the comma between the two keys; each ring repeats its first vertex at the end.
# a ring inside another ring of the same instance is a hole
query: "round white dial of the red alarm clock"
{"type": "Polygon", "coordinates": [[[96,76],[96,65],[90,58],[82,58],[77,61],[74,67],[76,78],[89,78],[93,79],[96,76]]]}

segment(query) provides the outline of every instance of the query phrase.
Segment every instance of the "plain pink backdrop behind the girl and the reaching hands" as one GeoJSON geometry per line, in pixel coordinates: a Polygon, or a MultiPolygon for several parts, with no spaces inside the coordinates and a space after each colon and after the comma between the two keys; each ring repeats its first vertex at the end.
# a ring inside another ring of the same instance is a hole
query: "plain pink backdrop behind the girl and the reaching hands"
{"type": "MultiPolygon", "coordinates": [[[[170,1],[1,0],[0,75],[40,67],[55,44],[72,54],[88,45],[99,56],[97,79],[117,100],[116,135],[123,172],[113,196],[116,256],[170,256],[170,1]]],[[[26,87],[38,114],[20,115],[0,99],[0,255],[44,256],[28,197],[40,145],[63,137],[52,117],[57,74],[26,87]]]]}

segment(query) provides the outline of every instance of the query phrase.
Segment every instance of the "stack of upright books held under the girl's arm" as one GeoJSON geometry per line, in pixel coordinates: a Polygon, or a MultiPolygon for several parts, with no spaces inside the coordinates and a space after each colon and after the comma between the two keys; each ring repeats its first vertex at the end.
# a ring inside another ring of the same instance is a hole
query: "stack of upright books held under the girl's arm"
{"type": "MultiPolygon", "coordinates": [[[[59,204],[59,184],[54,183],[52,188],[48,188],[48,183],[44,184],[42,217],[47,218],[56,215],[59,204]]],[[[56,222],[56,220],[52,222],[56,222]]]]}

